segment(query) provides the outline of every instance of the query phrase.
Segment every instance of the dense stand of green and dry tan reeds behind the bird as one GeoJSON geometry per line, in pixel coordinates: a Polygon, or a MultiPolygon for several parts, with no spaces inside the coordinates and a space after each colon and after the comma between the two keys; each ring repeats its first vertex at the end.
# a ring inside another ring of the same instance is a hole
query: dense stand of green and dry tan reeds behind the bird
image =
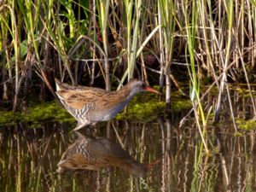
{"type": "Polygon", "coordinates": [[[32,93],[55,96],[55,77],[107,90],[139,78],[166,90],[169,112],[171,87],[186,92],[185,74],[204,148],[209,114],[213,108],[218,121],[229,83],[247,84],[256,116],[254,0],[4,0],[0,13],[0,89],[9,109],[32,93]],[[210,108],[201,102],[204,85],[218,87],[210,108]]]}

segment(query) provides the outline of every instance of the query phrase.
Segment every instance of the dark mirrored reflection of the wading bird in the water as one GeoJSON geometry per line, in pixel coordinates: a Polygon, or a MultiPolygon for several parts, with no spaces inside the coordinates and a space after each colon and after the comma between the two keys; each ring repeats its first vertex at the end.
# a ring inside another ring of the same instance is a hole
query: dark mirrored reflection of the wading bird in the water
{"type": "Polygon", "coordinates": [[[79,138],[62,154],[58,172],[98,170],[111,166],[118,166],[136,177],[143,177],[147,172],[147,166],[133,160],[119,144],[104,137],[75,133],[79,138]]]}

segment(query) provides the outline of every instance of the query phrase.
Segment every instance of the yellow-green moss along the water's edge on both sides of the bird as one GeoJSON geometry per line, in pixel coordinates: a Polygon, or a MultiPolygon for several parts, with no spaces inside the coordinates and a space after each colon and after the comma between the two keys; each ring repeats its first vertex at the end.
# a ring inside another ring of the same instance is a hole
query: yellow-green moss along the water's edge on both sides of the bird
{"type": "MultiPolygon", "coordinates": [[[[191,103],[188,99],[183,98],[179,92],[172,94],[172,112],[179,112],[190,108],[191,103]]],[[[116,119],[133,119],[142,120],[143,122],[157,119],[159,115],[166,111],[166,103],[158,101],[158,95],[142,93],[135,96],[125,112],[119,113],[116,119]]],[[[15,125],[24,123],[28,127],[40,127],[41,122],[66,122],[76,123],[65,108],[62,108],[56,101],[44,103],[30,103],[28,112],[6,112],[0,111],[0,126],[15,125]]]]}

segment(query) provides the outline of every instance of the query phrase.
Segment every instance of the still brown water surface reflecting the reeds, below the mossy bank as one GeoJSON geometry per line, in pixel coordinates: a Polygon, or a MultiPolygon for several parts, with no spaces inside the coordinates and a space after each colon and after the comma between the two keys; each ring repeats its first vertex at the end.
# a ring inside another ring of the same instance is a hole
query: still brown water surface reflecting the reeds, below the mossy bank
{"type": "MultiPolygon", "coordinates": [[[[247,116],[251,109],[242,106],[246,102],[235,101],[241,103],[235,113],[247,116]]],[[[72,125],[2,127],[0,191],[256,191],[255,131],[235,137],[234,126],[225,116],[219,125],[207,127],[210,154],[201,152],[195,119],[178,127],[183,114],[147,124],[98,124],[96,131],[79,131],[85,137],[103,138],[107,147],[113,145],[101,151],[104,144],[98,144],[97,139],[91,144],[99,150],[94,157],[102,160],[90,161],[98,163],[92,165],[98,170],[64,173],[57,172],[63,153],[77,155],[75,150],[67,152],[68,146],[78,141],[72,125]],[[139,168],[130,165],[133,163],[139,168]]]]}

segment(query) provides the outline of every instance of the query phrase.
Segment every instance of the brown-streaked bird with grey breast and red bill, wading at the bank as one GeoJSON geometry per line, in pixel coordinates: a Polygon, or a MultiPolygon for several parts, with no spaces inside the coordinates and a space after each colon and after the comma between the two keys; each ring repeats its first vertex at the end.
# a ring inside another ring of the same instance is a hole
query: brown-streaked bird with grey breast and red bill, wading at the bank
{"type": "Polygon", "coordinates": [[[138,79],[131,80],[119,90],[70,85],[61,83],[58,79],[55,79],[55,84],[56,95],[67,112],[78,121],[73,131],[78,131],[86,125],[94,125],[98,121],[113,119],[139,92],[160,94],[158,90],[138,79]]]}

